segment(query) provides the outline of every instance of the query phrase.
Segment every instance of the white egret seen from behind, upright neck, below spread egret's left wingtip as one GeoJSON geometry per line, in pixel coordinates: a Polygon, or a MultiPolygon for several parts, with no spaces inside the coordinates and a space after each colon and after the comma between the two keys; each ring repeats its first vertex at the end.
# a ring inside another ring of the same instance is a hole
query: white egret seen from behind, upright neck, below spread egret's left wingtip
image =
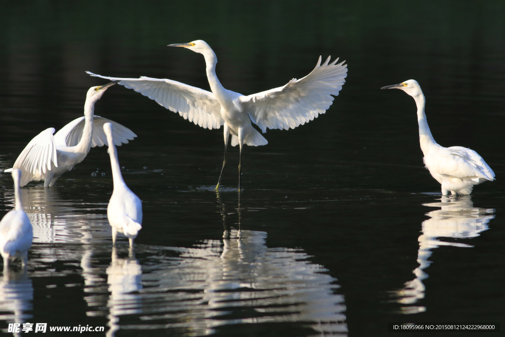
{"type": "Polygon", "coordinates": [[[125,234],[133,247],[133,239],[137,237],[138,231],[142,228],[142,202],[126,186],[119,167],[118,152],[114,146],[113,131],[111,123],[104,124],[104,131],[109,141],[109,155],[111,157],[112,179],[114,190],[112,192],[109,206],[107,206],[107,217],[112,227],[112,243],[116,244],[118,232],[125,234]]]}

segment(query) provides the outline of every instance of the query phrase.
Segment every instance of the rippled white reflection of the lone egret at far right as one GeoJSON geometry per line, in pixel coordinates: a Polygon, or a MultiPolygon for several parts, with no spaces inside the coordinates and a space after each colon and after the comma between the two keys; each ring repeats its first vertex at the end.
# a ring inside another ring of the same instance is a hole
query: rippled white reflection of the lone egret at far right
{"type": "Polygon", "coordinates": [[[444,241],[438,238],[462,239],[479,236],[480,232],[488,229],[489,220],[494,218],[494,215],[490,215],[494,212],[493,209],[473,207],[470,196],[456,198],[442,196],[440,201],[440,203],[423,204],[423,206],[440,207],[441,209],[426,213],[430,219],[425,220],[422,224],[417,258],[419,267],[413,271],[416,278],[406,282],[401,290],[393,292],[393,296],[398,297],[396,302],[406,305],[401,307],[401,313],[414,314],[426,311],[426,307],[413,304],[424,299],[426,288],[423,280],[428,277],[424,269],[431,264],[428,258],[433,249],[439,246],[473,247],[469,244],[453,240],[444,241]]]}

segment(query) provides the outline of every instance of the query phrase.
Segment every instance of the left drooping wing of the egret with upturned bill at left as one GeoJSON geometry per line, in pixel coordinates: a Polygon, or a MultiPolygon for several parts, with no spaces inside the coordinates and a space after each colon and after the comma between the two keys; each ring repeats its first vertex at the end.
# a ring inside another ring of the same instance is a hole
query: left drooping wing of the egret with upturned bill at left
{"type": "Polygon", "coordinates": [[[37,171],[45,173],[46,169],[51,170],[51,162],[58,167],[53,133],[55,133],[55,129],[52,127],[40,132],[30,140],[18,159],[16,159],[13,168],[21,170],[21,186],[26,185],[25,178],[31,177],[37,171]]]}

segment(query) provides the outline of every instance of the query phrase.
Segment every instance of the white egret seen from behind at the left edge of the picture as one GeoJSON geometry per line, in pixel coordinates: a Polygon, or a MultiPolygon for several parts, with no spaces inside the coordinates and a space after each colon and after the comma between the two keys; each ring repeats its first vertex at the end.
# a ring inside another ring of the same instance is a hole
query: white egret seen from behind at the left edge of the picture
{"type": "MultiPolygon", "coordinates": [[[[7,213],[0,221],[0,254],[4,258],[4,271],[9,266],[9,260],[21,259],[23,266],[28,261],[28,249],[31,247],[33,229],[28,215],[21,204],[19,180],[21,170],[12,171],[14,180],[15,209],[7,213]]],[[[5,274],[5,273],[4,273],[5,274]]]]}

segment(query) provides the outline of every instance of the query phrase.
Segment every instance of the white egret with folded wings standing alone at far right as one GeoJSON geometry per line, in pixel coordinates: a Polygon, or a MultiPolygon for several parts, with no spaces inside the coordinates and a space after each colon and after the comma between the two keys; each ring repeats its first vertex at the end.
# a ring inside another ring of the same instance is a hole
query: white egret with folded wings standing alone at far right
{"type": "Polygon", "coordinates": [[[444,148],[431,135],[424,113],[425,98],[421,86],[413,79],[381,89],[400,89],[411,95],[417,105],[419,141],[424,154],[424,164],[433,178],[442,184],[442,195],[469,195],[473,185],[494,180],[494,172],[477,152],[463,148],[444,148]]]}

